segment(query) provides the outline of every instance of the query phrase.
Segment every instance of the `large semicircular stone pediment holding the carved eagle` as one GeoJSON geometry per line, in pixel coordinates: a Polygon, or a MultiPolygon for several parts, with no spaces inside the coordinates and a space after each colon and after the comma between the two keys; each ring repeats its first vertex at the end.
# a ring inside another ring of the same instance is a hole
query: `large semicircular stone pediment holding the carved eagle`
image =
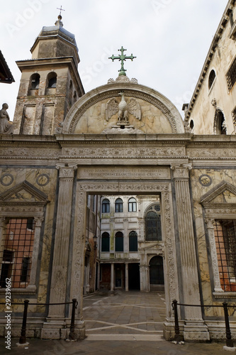
{"type": "Polygon", "coordinates": [[[62,133],[184,133],[184,124],[174,104],[159,92],[137,83],[113,82],[81,97],[64,119],[62,133]]]}

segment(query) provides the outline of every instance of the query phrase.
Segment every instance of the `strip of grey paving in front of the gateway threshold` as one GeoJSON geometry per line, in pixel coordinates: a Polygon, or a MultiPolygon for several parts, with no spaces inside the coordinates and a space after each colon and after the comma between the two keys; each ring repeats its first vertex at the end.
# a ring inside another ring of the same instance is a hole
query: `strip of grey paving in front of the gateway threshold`
{"type": "MultiPolygon", "coordinates": [[[[117,335],[117,334],[116,334],[117,335]]],[[[227,355],[234,354],[223,350],[225,344],[186,343],[172,344],[161,339],[159,341],[103,339],[79,342],[64,340],[29,339],[27,348],[17,347],[18,339],[11,339],[11,350],[5,349],[4,339],[0,339],[0,354],[6,355],[227,355]]]]}

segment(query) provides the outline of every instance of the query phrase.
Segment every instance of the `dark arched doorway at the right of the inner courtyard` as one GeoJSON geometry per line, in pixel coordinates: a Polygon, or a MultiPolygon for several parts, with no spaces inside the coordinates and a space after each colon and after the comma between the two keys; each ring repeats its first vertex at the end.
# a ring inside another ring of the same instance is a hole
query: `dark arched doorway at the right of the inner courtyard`
{"type": "Polygon", "coordinates": [[[150,291],[164,291],[164,269],[162,256],[150,260],[150,291]]]}

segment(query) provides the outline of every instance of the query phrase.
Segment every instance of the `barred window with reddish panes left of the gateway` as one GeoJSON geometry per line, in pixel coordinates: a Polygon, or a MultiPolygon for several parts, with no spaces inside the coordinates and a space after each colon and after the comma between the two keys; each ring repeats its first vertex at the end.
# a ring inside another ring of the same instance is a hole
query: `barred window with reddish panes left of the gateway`
{"type": "Polygon", "coordinates": [[[12,288],[27,287],[30,279],[34,232],[33,218],[9,220],[1,245],[1,288],[6,287],[6,278],[11,278],[12,288]]]}

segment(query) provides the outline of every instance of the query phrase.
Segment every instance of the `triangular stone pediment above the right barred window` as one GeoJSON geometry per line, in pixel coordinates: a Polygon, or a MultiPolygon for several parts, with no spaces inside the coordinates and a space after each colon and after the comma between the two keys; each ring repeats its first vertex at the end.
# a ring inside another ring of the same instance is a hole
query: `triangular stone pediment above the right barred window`
{"type": "Polygon", "coordinates": [[[203,195],[201,204],[236,204],[236,187],[223,181],[203,195]]]}

